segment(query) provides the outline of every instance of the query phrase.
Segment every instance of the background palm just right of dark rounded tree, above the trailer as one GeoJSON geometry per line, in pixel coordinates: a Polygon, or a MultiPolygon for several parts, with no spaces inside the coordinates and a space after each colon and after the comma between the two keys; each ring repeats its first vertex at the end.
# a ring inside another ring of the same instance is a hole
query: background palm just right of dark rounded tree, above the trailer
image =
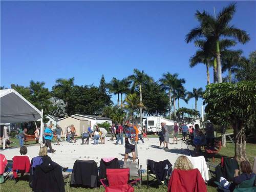
{"type": "MultiPolygon", "coordinates": [[[[173,104],[174,104],[174,117],[176,117],[176,91],[181,89],[183,86],[182,84],[185,83],[185,79],[178,79],[179,74],[174,73],[173,75],[169,72],[163,74],[163,78],[160,78],[159,81],[161,82],[160,86],[164,90],[168,90],[169,92],[169,101],[170,106],[172,106],[172,93],[173,93],[173,104]]],[[[172,114],[169,114],[170,119],[172,118],[172,114]]]]}

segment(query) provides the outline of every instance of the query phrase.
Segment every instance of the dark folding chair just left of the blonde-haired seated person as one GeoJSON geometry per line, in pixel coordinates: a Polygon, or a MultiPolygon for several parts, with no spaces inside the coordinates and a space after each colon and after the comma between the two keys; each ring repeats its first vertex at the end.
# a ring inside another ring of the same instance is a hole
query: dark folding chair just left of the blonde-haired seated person
{"type": "MultiPolygon", "coordinates": [[[[167,165],[167,167],[164,167],[163,170],[163,174],[166,175],[162,180],[165,181],[165,185],[168,186],[168,182],[169,182],[169,177],[170,174],[172,173],[172,164],[168,161],[168,160],[164,160],[163,162],[165,162],[165,164],[167,165]],[[164,173],[165,172],[165,173],[164,173]]],[[[157,169],[159,169],[159,163],[160,162],[156,162],[150,159],[146,160],[146,181],[147,181],[147,188],[148,186],[154,184],[154,183],[158,183],[158,184],[162,184],[162,181],[159,177],[156,176],[157,174],[157,169]],[[154,168],[154,165],[156,166],[154,168]],[[152,180],[149,180],[149,176],[153,177],[152,180]],[[149,184],[149,182],[152,182],[151,184],[149,184]]],[[[161,172],[161,170],[159,170],[161,172]]]]}

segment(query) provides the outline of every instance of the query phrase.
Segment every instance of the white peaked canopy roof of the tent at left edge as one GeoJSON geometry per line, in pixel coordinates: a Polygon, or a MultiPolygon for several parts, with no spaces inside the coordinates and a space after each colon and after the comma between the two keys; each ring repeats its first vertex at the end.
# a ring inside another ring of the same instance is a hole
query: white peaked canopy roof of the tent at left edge
{"type": "Polygon", "coordinates": [[[0,121],[15,123],[38,121],[41,112],[14,89],[0,90],[0,121]]]}

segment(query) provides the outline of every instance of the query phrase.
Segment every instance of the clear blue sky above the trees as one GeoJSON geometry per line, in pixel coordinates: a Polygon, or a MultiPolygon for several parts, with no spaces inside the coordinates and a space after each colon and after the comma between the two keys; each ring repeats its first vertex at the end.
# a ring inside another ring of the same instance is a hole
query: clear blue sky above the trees
{"type": "MultiPolygon", "coordinates": [[[[75,84],[98,86],[124,78],[133,69],[158,80],[179,73],[185,88],[205,87],[206,67],[190,69],[196,51],[185,35],[198,25],[196,10],[218,13],[225,1],[1,1],[1,86],[28,86],[45,81],[51,89],[57,78],[75,77],[75,84]]],[[[247,31],[251,40],[234,49],[244,55],[256,49],[256,2],[237,2],[231,24],[247,31]]],[[[210,69],[212,82],[212,69],[210,69]]],[[[116,102],[116,97],[113,96],[116,102]]],[[[181,106],[195,106],[194,99],[181,106]]],[[[200,100],[198,106],[202,104],[200,100]]]]}

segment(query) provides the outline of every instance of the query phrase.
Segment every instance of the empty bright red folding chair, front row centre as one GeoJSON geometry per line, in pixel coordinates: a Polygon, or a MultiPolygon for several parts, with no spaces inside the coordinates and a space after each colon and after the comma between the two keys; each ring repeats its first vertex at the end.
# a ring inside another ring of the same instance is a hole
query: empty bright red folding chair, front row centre
{"type": "Polygon", "coordinates": [[[105,188],[105,192],[133,192],[132,184],[140,181],[140,178],[129,181],[129,168],[107,168],[106,180],[100,179],[101,184],[105,188]]]}

